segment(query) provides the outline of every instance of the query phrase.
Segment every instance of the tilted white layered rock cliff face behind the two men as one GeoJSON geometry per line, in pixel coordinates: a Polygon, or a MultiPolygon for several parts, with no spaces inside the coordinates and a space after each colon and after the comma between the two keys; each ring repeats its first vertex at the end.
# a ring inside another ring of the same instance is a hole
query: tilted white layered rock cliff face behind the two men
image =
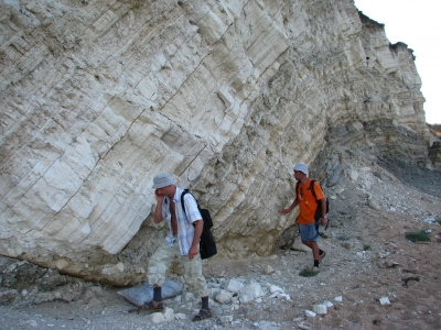
{"type": "Polygon", "coordinates": [[[336,144],[433,166],[412,51],[351,0],[12,0],[0,31],[8,256],[137,283],[165,231],[160,172],[209,208],[217,257],[234,258],[294,223],[279,211],[297,162],[325,188],[336,144]]]}

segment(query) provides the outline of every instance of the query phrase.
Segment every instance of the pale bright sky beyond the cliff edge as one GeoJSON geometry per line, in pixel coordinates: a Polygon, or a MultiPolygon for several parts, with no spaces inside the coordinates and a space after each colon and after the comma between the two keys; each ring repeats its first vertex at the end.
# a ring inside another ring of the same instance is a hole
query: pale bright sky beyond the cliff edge
{"type": "Polygon", "coordinates": [[[441,78],[440,0],[354,0],[365,15],[385,24],[390,43],[404,42],[413,50],[426,98],[428,123],[441,123],[441,101],[438,78],[441,78]]]}

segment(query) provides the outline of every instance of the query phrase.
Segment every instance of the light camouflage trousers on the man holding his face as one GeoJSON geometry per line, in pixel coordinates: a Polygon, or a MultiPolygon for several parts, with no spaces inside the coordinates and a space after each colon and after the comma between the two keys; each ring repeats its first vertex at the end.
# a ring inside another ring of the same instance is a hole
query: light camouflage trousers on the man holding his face
{"type": "Polygon", "coordinates": [[[208,289],[204,275],[202,275],[201,254],[196,254],[193,260],[189,255],[181,255],[178,242],[173,246],[163,243],[158,248],[149,260],[149,284],[158,284],[162,286],[165,280],[165,273],[172,265],[172,262],[178,260],[184,268],[184,278],[189,285],[190,292],[195,297],[208,296],[208,289]]]}

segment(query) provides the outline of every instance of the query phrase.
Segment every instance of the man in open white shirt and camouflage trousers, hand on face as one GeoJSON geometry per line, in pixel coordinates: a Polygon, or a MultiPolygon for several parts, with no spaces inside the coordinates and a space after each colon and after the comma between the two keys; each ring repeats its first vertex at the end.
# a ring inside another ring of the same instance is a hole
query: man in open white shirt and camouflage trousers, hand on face
{"type": "Polygon", "coordinates": [[[208,307],[208,289],[202,274],[202,260],[200,254],[200,238],[204,222],[197,208],[197,202],[191,194],[184,195],[185,213],[181,205],[183,189],[174,185],[172,176],[161,173],[153,178],[157,208],[153,221],[159,224],[166,220],[169,233],[165,242],[161,244],[149,260],[149,283],[153,286],[153,300],[141,307],[148,311],[163,310],[161,286],[165,280],[165,272],[173,261],[178,260],[183,270],[184,278],[190,292],[195,297],[201,297],[202,308],[193,318],[201,321],[212,317],[208,307]]]}

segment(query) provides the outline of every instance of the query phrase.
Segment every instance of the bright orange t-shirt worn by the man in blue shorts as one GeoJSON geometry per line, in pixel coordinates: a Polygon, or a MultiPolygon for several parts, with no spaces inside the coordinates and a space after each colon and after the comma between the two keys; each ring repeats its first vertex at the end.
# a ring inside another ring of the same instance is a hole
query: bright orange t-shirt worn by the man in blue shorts
{"type": "Polygon", "coordinates": [[[297,201],[299,204],[300,213],[298,218],[298,222],[300,224],[309,224],[315,222],[314,216],[315,210],[318,208],[318,202],[325,198],[322,188],[319,183],[314,183],[314,191],[316,196],[316,201],[314,195],[311,193],[311,178],[308,178],[308,183],[304,185],[302,183],[299,184],[299,191],[297,194],[297,201]]]}

